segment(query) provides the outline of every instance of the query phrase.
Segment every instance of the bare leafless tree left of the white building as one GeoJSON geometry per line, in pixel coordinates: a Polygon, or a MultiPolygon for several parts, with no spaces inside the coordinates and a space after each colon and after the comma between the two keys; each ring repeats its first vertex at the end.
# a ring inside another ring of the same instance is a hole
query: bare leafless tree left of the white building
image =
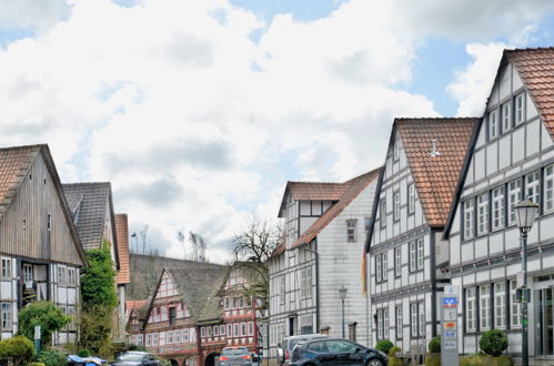
{"type": "Polygon", "coordinates": [[[258,299],[258,308],[269,307],[270,273],[268,260],[283,240],[283,231],[266,221],[251,218],[246,228],[233,237],[235,266],[246,277],[246,285],[238,285],[240,292],[258,299]]]}

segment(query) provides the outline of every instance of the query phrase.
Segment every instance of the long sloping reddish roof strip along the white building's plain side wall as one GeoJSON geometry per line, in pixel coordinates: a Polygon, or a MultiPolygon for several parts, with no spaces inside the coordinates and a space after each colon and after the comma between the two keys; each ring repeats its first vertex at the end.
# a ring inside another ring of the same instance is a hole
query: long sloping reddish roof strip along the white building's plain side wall
{"type": "Polygon", "coordinates": [[[356,176],[347,182],[342,183],[344,193],[340,201],[332,205],[325,213],[318,218],[300,237],[292,244],[292,248],[310,243],[323,228],[329,225],[341,212],[346,209],[355,197],[379,176],[380,169],[356,176]]]}

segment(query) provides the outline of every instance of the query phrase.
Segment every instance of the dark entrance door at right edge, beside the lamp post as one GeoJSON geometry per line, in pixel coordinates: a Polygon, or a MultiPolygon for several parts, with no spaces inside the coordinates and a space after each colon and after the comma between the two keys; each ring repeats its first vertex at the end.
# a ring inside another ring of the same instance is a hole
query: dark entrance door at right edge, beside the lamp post
{"type": "Polygon", "coordinates": [[[554,289],[542,288],[535,291],[536,298],[536,332],[537,354],[544,356],[554,355],[554,289]]]}

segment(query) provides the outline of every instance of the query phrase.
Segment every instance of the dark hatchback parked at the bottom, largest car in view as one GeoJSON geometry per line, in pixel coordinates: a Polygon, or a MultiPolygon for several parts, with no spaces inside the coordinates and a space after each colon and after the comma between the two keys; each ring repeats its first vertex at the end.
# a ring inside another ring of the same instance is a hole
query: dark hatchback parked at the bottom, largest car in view
{"type": "Polygon", "coordinates": [[[294,366],[386,366],[384,353],[341,338],[306,340],[295,347],[292,354],[294,366]]]}

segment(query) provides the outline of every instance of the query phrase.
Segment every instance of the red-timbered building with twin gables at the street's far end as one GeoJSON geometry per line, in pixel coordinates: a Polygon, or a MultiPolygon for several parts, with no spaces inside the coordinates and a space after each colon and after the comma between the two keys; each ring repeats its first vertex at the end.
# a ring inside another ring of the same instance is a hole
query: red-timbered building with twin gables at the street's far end
{"type": "Polygon", "coordinates": [[[236,266],[164,268],[151,299],[130,313],[130,339],[175,365],[214,365],[226,346],[256,352],[261,314],[248,286],[236,266]]]}

